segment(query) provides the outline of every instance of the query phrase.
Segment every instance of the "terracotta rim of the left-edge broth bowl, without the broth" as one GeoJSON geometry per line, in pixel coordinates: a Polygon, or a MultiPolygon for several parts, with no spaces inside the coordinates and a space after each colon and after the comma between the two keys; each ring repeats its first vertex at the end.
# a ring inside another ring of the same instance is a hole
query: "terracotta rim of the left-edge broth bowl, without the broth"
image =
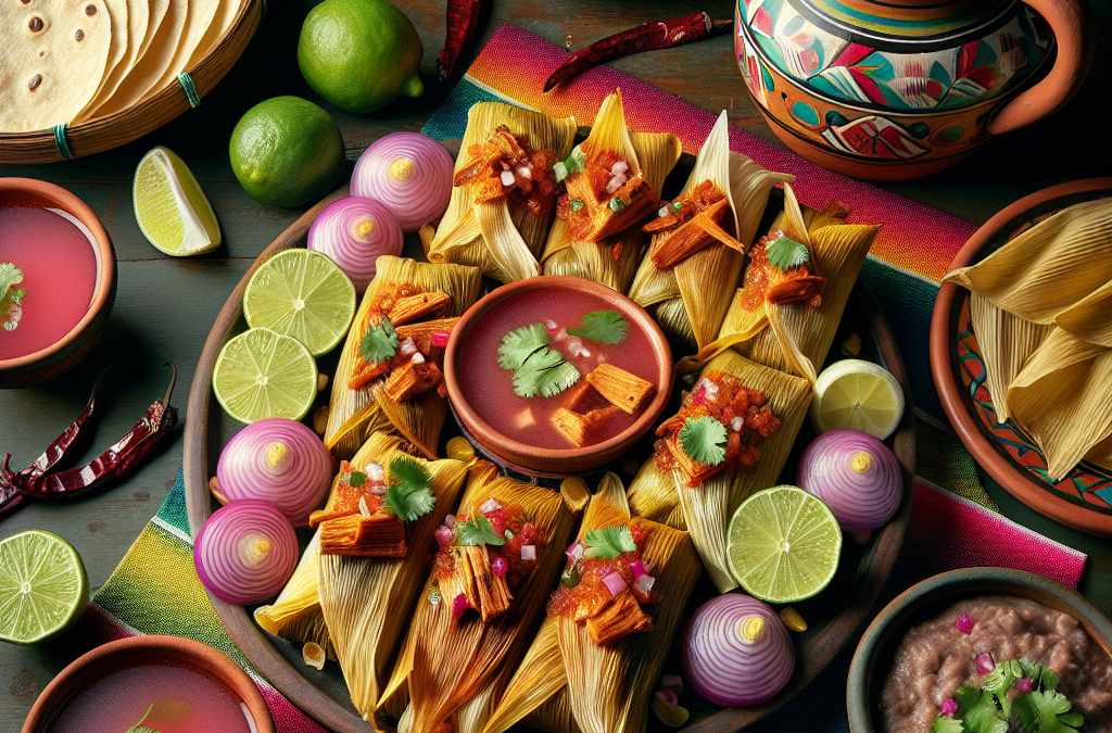
{"type": "Polygon", "coordinates": [[[116,251],[100,219],[64,188],[31,178],[0,178],[0,208],[58,208],[83,224],[95,240],[97,285],[85,317],[58,343],[14,359],[0,359],[0,388],[28,387],[72,369],[100,340],[116,300],[116,251]]]}

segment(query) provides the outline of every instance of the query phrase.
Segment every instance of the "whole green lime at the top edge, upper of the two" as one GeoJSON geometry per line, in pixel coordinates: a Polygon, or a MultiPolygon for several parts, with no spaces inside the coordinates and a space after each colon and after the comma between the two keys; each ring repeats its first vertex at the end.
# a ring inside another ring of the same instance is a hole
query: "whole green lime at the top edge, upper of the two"
{"type": "Polygon", "coordinates": [[[405,13],[384,0],[325,0],[309,11],[297,65],[312,89],[348,112],[420,97],[424,49],[405,13]]]}

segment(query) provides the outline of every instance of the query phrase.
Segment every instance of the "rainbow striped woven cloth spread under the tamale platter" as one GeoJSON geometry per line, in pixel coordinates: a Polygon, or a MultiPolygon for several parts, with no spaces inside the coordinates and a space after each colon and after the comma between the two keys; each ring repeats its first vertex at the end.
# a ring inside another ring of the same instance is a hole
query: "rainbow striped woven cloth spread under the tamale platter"
{"type": "MultiPolygon", "coordinates": [[[[603,97],[622,87],[635,130],[672,131],[687,152],[698,151],[713,115],[613,69],[594,69],[543,96],[544,80],[564,58],[563,49],[504,26],[424,131],[437,139],[463,137],[467,109],[483,100],[507,101],[554,116],[574,115],[580,123],[589,123],[603,97]]],[[[931,308],[939,278],[975,227],[818,168],[742,130],[732,130],[732,145],[767,168],[794,174],[797,195],[807,206],[823,208],[837,198],[853,209],[852,220],[884,222],[863,275],[888,319],[901,324],[896,336],[912,379],[921,466],[904,548],[884,598],[936,573],[982,565],[1032,571],[1075,587],[1085,556],[992,511],[972,459],[943,427],[926,350],[931,308]]],[[[221,626],[193,568],[180,475],[158,515],[97,592],[82,623],[92,641],[170,634],[205,642],[251,674],[280,733],[324,730],[251,668],[221,626]]],[[[845,678],[852,652],[852,646],[843,651],[808,687],[806,705],[788,704],[749,730],[848,731],[845,678]]]]}

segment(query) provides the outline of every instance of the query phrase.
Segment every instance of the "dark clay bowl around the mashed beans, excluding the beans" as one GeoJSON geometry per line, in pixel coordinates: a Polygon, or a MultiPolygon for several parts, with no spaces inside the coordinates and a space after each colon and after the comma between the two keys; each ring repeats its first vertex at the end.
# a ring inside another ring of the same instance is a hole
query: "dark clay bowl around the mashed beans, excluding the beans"
{"type": "Polygon", "coordinates": [[[957,601],[986,595],[1030,598],[1069,614],[1112,655],[1112,621],[1093,602],[1056,581],[1004,567],[969,567],[940,573],[900,594],[865,630],[854,652],[846,685],[852,733],[884,731],[880,694],[904,635],[957,601]]]}

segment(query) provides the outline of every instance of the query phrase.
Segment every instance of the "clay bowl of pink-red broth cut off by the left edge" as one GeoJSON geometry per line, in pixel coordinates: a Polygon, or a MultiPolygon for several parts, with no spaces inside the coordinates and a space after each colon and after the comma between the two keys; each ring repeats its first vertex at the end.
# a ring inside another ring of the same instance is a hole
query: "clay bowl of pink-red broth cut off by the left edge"
{"type": "Polygon", "coordinates": [[[76,366],[115,299],[116,252],[92,209],[53,184],[0,178],[0,387],[76,366]]]}

